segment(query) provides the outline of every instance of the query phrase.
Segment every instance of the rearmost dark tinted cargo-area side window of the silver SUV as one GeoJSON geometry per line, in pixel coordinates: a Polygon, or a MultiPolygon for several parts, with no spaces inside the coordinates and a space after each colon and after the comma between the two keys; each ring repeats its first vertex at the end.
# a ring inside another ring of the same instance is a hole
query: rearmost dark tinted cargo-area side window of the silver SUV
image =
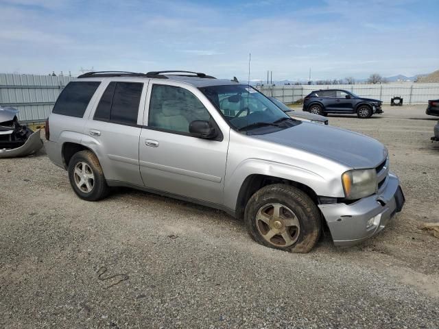
{"type": "Polygon", "coordinates": [[[100,82],[70,82],[56,100],[52,113],[69,117],[84,117],[88,102],[99,84],[100,82]]]}

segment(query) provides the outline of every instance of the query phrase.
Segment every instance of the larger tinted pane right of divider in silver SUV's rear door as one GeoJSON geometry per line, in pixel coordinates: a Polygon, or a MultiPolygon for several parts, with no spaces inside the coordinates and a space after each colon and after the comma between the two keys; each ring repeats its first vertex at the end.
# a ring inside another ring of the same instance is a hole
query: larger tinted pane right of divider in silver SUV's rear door
{"type": "Polygon", "coordinates": [[[117,82],[112,97],[110,121],[137,124],[142,88],[143,84],[138,82],[117,82]]]}

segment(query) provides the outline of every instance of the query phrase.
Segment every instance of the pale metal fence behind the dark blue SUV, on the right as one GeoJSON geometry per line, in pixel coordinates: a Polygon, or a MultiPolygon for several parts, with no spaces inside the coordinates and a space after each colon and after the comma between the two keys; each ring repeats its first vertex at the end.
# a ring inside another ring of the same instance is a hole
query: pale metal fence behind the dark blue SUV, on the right
{"type": "Polygon", "coordinates": [[[403,104],[426,104],[429,99],[439,98],[439,84],[287,85],[258,86],[257,89],[283,103],[294,103],[319,89],[344,89],[361,97],[381,99],[387,105],[390,105],[390,99],[394,96],[403,97],[403,104]]]}

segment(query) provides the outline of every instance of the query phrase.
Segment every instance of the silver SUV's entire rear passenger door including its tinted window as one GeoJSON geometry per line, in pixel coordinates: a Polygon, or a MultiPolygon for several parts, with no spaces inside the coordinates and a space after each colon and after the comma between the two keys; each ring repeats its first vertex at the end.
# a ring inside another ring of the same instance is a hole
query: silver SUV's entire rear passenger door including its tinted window
{"type": "Polygon", "coordinates": [[[139,172],[139,138],[147,80],[107,81],[86,124],[84,145],[93,149],[106,180],[143,186],[139,172]],[[139,124],[140,123],[140,124],[139,124]]]}

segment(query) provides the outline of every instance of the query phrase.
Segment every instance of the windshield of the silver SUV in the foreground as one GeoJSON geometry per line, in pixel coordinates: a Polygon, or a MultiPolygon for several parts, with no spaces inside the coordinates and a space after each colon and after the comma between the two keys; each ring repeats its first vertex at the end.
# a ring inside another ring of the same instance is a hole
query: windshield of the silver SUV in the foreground
{"type": "Polygon", "coordinates": [[[203,87],[200,90],[235,130],[249,131],[267,127],[280,130],[297,124],[270,99],[250,86],[233,84],[203,87]]]}

